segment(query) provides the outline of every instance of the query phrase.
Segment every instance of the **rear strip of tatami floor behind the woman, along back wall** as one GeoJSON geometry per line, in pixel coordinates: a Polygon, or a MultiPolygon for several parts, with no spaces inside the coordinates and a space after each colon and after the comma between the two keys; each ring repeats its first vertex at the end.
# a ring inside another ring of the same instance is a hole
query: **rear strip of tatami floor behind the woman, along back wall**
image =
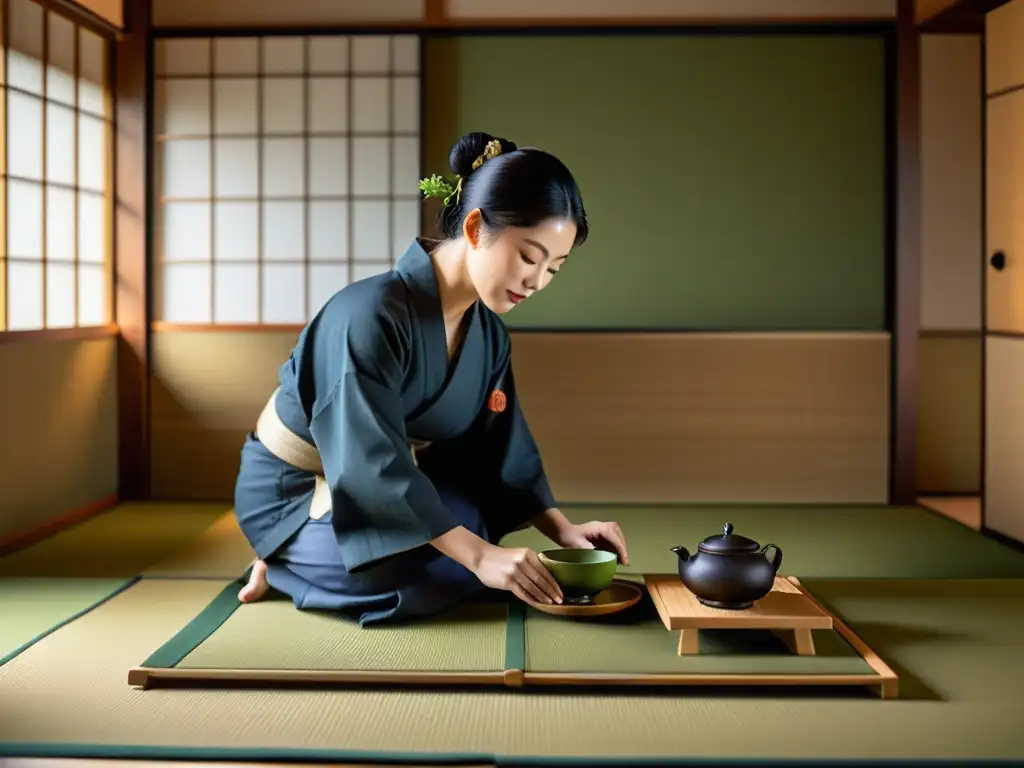
{"type": "MultiPolygon", "coordinates": [[[[630,544],[623,575],[672,572],[670,550],[721,532],[777,544],[782,570],[802,579],[1024,578],[1024,553],[921,507],[774,507],[756,505],[566,507],[583,522],[616,520],[630,544]]],[[[536,529],[508,545],[552,546],[536,529]]],[[[233,579],[252,549],[229,507],[125,504],[0,558],[0,575],[233,579]]]]}

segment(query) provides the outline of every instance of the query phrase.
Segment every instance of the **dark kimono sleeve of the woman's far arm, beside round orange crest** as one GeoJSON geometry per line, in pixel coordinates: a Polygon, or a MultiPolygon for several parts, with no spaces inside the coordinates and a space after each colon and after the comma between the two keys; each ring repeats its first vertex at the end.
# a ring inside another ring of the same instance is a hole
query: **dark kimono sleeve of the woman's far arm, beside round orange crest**
{"type": "Polygon", "coordinates": [[[512,350],[506,342],[498,367],[495,386],[488,394],[484,427],[486,455],[497,470],[502,506],[520,519],[529,519],[556,505],[519,401],[512,370],[512,350]]]}

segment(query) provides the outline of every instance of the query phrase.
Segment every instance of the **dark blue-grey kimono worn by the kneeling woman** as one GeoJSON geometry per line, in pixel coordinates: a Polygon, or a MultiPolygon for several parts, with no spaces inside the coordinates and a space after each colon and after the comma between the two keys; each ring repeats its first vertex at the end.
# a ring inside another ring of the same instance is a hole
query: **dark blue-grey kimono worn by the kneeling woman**
{"type": "Polygon", "coordinates": [[[236,514],[271,586],[300,607],[354,609],[365,624],[435,612],[479,582],[430,540],[462,524],[497,542],[555,506],[504,323],[479,302],[463,323],[450,365],[417,241],[393,271],[338,292],[282,366],[275,411],[318,451],[331,512],[310,519],[314,475],[251,433],[236,514]],[[411,441],[431,445],[417,461],[411,441]]]}

